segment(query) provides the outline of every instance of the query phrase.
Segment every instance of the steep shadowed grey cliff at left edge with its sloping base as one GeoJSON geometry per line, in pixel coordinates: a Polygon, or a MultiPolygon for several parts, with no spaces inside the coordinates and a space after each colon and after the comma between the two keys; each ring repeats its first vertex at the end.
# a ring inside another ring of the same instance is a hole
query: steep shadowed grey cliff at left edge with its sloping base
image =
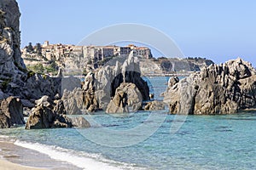
{"type": "Polygon", "coordinates": [[[61,77],[50,78],[26,71],[20,57],[20,10],[15,0],[0,1],[0,98],[52,99],[61,94],[61,77]]]}

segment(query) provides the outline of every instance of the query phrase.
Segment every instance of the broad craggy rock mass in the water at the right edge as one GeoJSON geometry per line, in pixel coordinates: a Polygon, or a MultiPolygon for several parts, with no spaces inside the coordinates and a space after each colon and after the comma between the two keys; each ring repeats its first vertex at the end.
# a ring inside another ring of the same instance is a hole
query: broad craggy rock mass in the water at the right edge
{"type": "Polygon", "coordinates": [[[256,71],[235,59],[184,78],[165,94],[172,114],[231,114],[256,106],[256,71]]]}

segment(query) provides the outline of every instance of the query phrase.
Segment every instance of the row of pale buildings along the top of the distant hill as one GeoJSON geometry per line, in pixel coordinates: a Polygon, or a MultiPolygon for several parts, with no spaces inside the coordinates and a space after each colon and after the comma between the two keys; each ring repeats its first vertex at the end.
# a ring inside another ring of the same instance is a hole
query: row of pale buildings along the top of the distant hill
{"type": "Polygon", "coordinates": [[[43,58],[46,60],[61,61],[64,58],[74,58],[78,60],[84,60],[90,63],[96,63],[97,61],[104,60],[108,57],[119,56],[133,53],[143,57],[144,59],[152,58],[152,54],[147,47],[137,47],[130,44],[126,47],[119,47],[115,45],[111,46],[74,46],[64,44],[49,44],[49,41],[45,41],[44,44],[37,43],[36,46],[32,46],[30,42],[26,48],[22,49],[22,56],[24,59],[38,59],[43,58]]]}

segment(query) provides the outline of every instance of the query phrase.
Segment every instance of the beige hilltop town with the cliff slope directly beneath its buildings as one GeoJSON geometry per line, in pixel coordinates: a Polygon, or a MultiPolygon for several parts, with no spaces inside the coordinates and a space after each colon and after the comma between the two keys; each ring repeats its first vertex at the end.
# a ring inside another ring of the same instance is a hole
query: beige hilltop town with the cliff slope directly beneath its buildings
{"type": "Polygon", "coordinates": [[[151,59],[151,50],[147,47],[137,47],[130,44],[126,47],[119,46],[75,46],[65,44],[49,44],[45,41],[43,45],[37,43],[32,46],[32,42],[21,49],[22,58],[28,69],[39,72],[54,72],[59,67],[66,71],[80,70],[89,65],[97,68],[104,65],[109,59],[117,56],[133,54],[139,55],[143,59],[151,59]],[[41,70],[40,68],[46,68],[41,70]]]}

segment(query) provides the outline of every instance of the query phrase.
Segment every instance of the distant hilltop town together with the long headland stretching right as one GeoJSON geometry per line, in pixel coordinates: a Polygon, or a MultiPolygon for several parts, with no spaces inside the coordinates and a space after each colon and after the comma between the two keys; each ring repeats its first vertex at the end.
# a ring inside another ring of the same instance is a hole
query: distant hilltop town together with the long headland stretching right
{"type": "MultiPolygon", "coordinates": [[[[24,59],[28,70],[41,74],[55,75],[62,68],[67,75],[85,74],[90,69],[96,69],[105,65],[108,61],[122,59],[133,51],[141,63],[143,75],[171,74],[173,72],[201,71],[207,65],[213,64],[212,60],[203,58],[166,58],[155,59],[148,47],[137,47],[129,44],[125,47],[116,45],[108,46],[75,46],[68,44],[44,44],[32,45],[30,42],[21,49],[21,57],[24,59]]],[[[111,65],[108,63],[108,65],[111,65]]]]}

